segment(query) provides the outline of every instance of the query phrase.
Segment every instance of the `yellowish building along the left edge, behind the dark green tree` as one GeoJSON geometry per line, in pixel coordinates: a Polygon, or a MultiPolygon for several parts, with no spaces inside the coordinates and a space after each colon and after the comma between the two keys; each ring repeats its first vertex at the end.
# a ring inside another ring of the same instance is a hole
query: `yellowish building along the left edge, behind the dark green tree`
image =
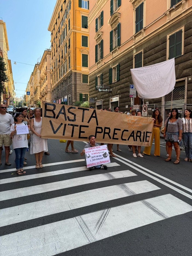
{"type": "Polygon", "coordinates": [[[5,91],[1,95],[0,104],[10,105],[11,102],[14,100],[14,81],[13,81],[13,74],[12,74],[12,68],[11,68],[11,61],[8,60],[8,51],[9,51],[9,45],[8,45],[8,37],[7,37],[7,29],[6,24],[3,21],[3,19],[0,17],[0,49],[1,49],[1,56],[4,58],[5,62],[5,68],[6,68],[6,74],[9,79],[8,82],[4,83],[5,91]]]}

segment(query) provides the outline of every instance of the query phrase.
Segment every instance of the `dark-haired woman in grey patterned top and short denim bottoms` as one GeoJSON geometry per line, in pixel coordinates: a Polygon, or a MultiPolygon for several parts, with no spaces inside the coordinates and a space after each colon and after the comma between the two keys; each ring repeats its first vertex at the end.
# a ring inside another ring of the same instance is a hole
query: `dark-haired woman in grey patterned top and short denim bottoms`
{"type": "Polygon", "coordinates": [[[165,130],[163,137],[165,138],[166,144],[168,145],[168,158],[166,162],[171,161],[172,146],[174,146],[176,152],[176,160],[173,164],[179,164],[180,160],[180,148],[179,141],[182,139],[182,121],[179,117],[178,109],[174,108],[171,110],[170,117],[165,121],[165,130]]]}

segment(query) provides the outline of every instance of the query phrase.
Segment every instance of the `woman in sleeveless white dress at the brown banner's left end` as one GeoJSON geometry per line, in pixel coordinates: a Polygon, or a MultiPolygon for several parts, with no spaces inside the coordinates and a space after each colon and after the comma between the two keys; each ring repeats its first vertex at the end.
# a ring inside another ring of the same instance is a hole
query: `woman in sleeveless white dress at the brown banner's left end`
{"type": "Polygon", "coordinates": [[[34,109],[34,118],[31,119],[30,129],[33,132],[31,136],[31,148],[30,154],[35,154],[36,165],[35,168],[43,168],[42,159],[43,152],[47,152],[47,139],[41,138],[41,127],[42,127],[42,117],[41,110],[39,107],[34,109]]]}

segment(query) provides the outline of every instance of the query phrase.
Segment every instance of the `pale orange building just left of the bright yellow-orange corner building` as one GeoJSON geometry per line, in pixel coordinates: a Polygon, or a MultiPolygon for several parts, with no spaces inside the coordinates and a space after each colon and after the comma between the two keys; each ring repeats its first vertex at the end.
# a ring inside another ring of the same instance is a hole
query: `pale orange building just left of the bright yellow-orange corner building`
{"type": "Polygon", "coordinates": [[[51,50],[46,49],[43,53],[38,69],[40,70],[40,100],[51,102],[51,50]]]}

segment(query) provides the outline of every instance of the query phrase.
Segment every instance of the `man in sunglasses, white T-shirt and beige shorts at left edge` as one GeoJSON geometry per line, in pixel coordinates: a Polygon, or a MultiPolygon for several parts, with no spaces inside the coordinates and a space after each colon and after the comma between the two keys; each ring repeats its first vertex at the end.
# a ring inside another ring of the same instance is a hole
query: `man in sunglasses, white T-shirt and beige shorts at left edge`
{"type": "Polygon", "coordinates": [[[7,107],[4,104],[0,105],[0,165],[1,162],[1,152],[3,144],[5,147],[5,164],[11,165],[9,160],[9,147],[12,144],[10,138],[10,126],[14,123],[13,117],[11,114],[6,113],[7,107]]]}

